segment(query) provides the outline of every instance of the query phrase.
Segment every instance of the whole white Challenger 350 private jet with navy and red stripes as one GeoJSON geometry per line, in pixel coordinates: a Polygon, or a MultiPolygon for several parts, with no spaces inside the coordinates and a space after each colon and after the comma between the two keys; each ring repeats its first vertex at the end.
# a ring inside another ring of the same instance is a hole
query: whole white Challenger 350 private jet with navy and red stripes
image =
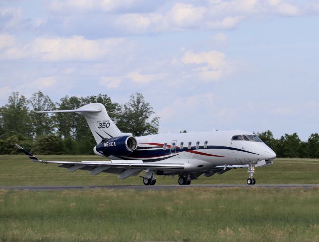
{"type": "Polygon", "coordinates": [[[45,161],[15,144],[34,162],[55,163],[69,171],[87,170],[118,174],[119,179],[145,172],[144,185],[155,185],[156,175],[178,175],[179,185],[190,185],[202,174],[222,174],[236,168],[248,168],[247,185],[256,184],[255,168],[273,164],[275,152],[256,134],[246,131],[214,131],[134,137],[122,133],[101,103],[90,103],[74,110],[38,111],[74,112],[86,118],[97,145],[96,155],[108,161],[45,161]]]}

